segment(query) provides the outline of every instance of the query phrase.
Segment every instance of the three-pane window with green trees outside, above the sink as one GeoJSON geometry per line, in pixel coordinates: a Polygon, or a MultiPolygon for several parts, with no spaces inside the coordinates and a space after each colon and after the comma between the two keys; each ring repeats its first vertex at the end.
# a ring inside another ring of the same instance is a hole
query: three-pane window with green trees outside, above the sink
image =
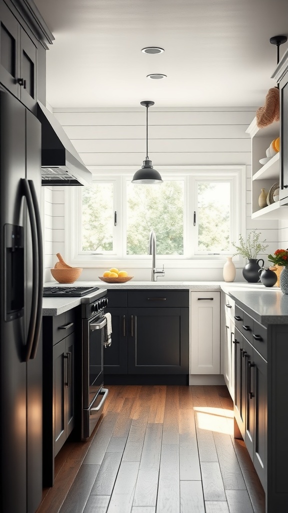
{"type": "Polygon", "coordinates": [[[151,230],[162,259],[183,264],[232,254],[243,230],[244,168],[183,166],[161,175],[160,185],[135,185],[132,174],[111,173],[95,176],[90,187],[71,188],[71,261],[140,262],[150,258],[151,230]]]}

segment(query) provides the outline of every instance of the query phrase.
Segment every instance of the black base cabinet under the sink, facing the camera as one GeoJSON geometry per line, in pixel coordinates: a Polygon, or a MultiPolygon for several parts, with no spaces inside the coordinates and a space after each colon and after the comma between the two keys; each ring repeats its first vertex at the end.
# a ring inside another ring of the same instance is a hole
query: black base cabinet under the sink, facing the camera
{"type": "Polygon", "coordinates": [[[104,349],[105,381],[188,383],[188,290],[108,290],[108,300],[112,344],[104,349]]]}

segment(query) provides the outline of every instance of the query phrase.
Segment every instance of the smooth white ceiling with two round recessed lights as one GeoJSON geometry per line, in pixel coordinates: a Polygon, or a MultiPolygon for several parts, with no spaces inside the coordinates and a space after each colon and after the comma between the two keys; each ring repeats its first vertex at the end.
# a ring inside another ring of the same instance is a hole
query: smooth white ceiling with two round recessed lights
{"type": "Polygon", "coordinates": [[[288,35],[287,0],[34,1],[55,36],[52,107],[257,107],[275,85],[269,39],[288,35]]]}

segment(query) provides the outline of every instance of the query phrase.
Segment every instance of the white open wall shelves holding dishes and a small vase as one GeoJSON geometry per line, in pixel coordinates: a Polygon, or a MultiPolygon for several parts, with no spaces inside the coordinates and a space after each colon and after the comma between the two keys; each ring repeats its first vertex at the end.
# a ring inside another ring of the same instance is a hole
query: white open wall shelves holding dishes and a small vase
{"type": "Polygon", "coordinates": [[[263,166],[259,160],[266,157],[266,149],[269,148],[273,139],[279,137],[280,124],[274,122],[268,127],[258,128],[256,117],[246,130],[252,139],[252,219],[288,219],[288,206],[280,206],[280,202],[272,203],[264,208],[260,208],[258,198],[261,189],[268,193],[272,185],[279,184],[280,181],[280,159],[279,152],[276,153],[263,166]]]}

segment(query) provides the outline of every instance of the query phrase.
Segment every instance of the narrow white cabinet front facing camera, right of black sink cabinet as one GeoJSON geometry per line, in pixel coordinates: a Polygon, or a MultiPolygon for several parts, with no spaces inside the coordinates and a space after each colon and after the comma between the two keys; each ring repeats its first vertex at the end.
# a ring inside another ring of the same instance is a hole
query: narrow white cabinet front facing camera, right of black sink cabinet
{"type": "Polygon", "coordinates": [[[220,373],[220,292],[190,293],[190,374],[220,373]]]}

